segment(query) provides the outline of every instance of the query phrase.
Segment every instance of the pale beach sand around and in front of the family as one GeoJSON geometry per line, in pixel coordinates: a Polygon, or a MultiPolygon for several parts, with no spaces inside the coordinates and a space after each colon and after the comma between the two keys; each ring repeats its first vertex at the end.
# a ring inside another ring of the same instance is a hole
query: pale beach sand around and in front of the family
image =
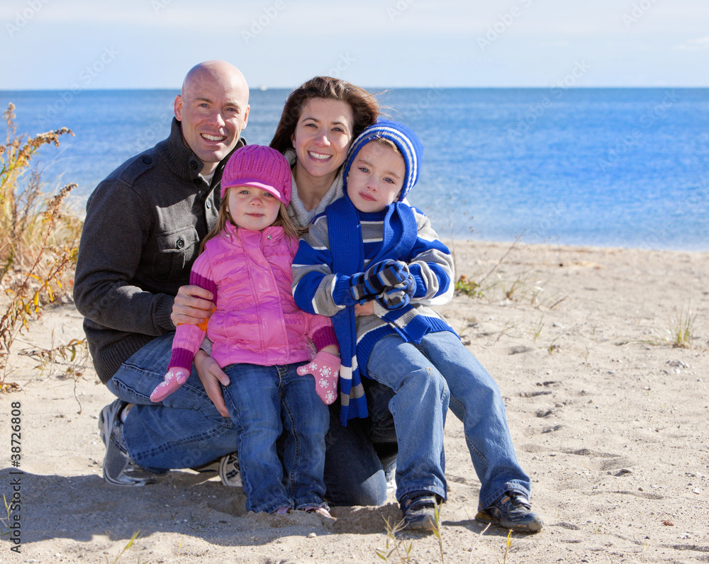
{"type": "MultiPolygon", "coordinates": [[[[501,388],[545,527],[514,534],[507,548],[508,531],[474,521],[479,482],[450,414],[445,562],[709,562],[709,253],[452,247],[459,273],[489,276],[483,297],[460,294],[440,310],[501,388]],[[690,346],[673,346],[690,308],[690,346]]],[[[81,316],[64,305],[34,323],[15,352],[82,337],[81,316]]],[[[383,507],[335,508],[337,521],[325,523],[246,514],[242,490],[191,470],[150,487],[105,484],[97,416],[111,394],[82,355],[37,364],[13,355],[7,380],[21,390],[0,395],[0,493],[10,500],[21,480],[21,553],[0,524],[1,563],[381,561],[384,519],[400,515],[393,496],[383,507]],[[10,466],[14,402],[20,475],[10,466]]],[[[435,536],[398,538],[413,543],[411,561],[442,560],[435,536]]]]}

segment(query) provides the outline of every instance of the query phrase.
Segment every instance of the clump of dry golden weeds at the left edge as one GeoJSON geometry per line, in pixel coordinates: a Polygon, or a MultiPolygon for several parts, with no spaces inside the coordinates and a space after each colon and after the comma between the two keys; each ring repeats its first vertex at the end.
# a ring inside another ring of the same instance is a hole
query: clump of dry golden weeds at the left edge
{"type": "MultiPolygon", "coordinates": [[[[76,184],[55,196],[42,190],[41,172],[31,160],[43,145],[59,146],[71,130],[16,135],[15,106],[3,118],[6,143],[0,145],[0,287],[9,298],[0,317],[0,391],[16,388],[5,382],[11,346],[28,321],[37,319],[57,294],[69,293],[82,223],[65,212],[65,199],[76,184]]],[[[0,310],[1,311],[1,310],[0,310]]]]}

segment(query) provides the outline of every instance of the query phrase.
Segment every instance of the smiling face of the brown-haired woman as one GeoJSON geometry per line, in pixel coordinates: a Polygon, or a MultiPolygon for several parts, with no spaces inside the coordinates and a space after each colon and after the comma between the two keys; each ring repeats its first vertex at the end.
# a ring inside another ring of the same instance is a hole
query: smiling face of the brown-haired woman
{"type": "Polygon", "coordinates": [[[352,142],[352,108],[340,100],[313,98],[303,106],[291,142],[296,149],[296,176],[332,176],[345,162],[352,142]]]}

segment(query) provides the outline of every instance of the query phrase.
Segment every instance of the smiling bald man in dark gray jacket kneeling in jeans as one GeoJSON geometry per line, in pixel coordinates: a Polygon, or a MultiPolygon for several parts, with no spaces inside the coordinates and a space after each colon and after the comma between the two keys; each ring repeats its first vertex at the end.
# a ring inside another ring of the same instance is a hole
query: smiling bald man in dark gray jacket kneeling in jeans
{"type": "Polygon", "coordinates": [[[220,457],[223,474],[234,474],[226,465],[236,433],[208,354],[196,359],[199,378],[161,404],[150,393],[167,371],[177,323],[211,311],[213,296],[186,285],[199,242],[216,224],[221,174],[245,145],[248,118],[239,69],[196,65],[175,98],[169,137],[121,164],[86,204],[74,300],[96,373],[118,397],[99,418],[108,483],[147,485],[171,468],[220,457]]]}

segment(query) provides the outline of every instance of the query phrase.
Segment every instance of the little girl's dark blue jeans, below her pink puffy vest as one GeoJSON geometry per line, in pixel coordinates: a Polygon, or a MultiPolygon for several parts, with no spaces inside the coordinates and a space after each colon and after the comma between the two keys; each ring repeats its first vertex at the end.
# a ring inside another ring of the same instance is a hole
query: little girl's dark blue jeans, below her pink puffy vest
{"type": "Polygon", "coordinates": [[[325,433],[330,417],[316,393],[313,376],[296,373],[303,364],[231,364],[224,368],[230,379],[228,386],[222,386],[224,401],[238,433],[249,511],[272,513],[284,506],[303,509],[323,504],[325,433]],[[276,451],[282,432],[285,487],[276,451]]]}

